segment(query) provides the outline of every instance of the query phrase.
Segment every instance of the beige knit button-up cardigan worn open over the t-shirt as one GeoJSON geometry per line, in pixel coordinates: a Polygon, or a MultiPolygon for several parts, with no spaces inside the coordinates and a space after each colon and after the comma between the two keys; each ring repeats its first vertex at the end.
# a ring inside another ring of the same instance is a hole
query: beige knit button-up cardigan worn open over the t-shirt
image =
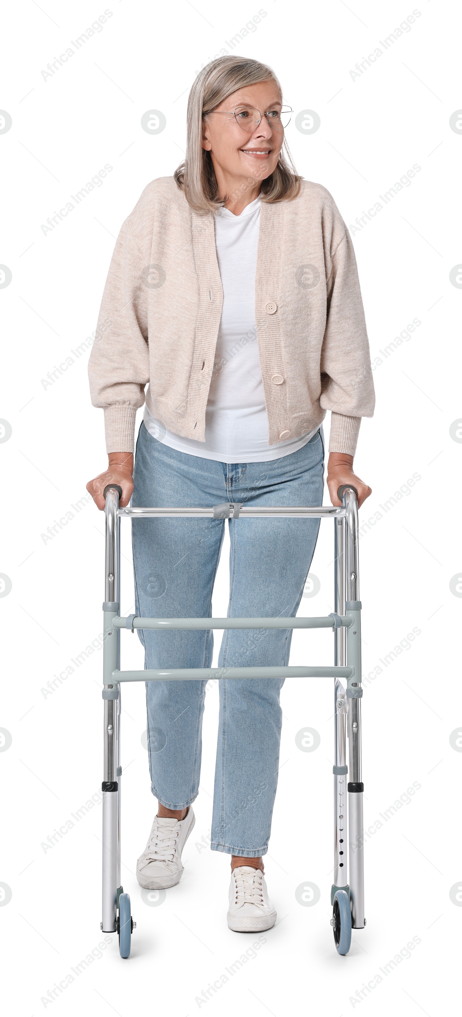
{"type": "MultiPolygon", "coordinates": [[[[153,180],[119,234],[89,358],[108,452],[133,452],[144,399],[169,430],[204,441],[221,306],[213,214],[195,213],[173,177],[153,180]]],[[[329,451],[354,455],[374,413],[368,334],[351,239],[319,184],[261,203],[255,318],[268,444],[331,410],[329,451]]]]}

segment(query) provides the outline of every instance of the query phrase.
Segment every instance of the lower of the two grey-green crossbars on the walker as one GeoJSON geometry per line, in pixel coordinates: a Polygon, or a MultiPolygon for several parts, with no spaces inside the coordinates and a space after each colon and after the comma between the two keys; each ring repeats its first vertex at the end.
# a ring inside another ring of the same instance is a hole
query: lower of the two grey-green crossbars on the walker
{"type": "Polygon", "coordinates": [[[352,667],[184,667],[154,671],[113,671],[119,681],[207,681],[210,678],[350,678],[352,667]]]}

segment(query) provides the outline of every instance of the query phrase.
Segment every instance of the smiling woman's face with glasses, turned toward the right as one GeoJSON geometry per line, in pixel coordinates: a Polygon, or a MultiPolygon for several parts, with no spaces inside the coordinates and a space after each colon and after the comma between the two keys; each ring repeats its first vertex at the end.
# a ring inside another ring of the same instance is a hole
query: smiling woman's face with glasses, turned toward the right
{"type": "Polygon", "coordinates": [[[219,167],[225,175],[265,180],[276,168],[284,132],[270,127],[265,116],[254,130],[243,129],[246,115],[240,118],[243,126],[233,116],[243,106],[254,107],[262,114],[280,109],[274,81],[239,88],[220,103],[204,120],[202,146],[210,153],[215,173],[219,167]]]}

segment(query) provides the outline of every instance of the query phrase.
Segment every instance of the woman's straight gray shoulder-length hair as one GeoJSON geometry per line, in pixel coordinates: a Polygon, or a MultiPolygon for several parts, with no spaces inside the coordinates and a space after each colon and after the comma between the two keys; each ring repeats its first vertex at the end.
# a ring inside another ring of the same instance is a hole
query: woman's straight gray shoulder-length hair
{"type": "MultiPolygon", "coordinates": [[[[219,57],[199,71],[188,100],[186,157],[174,174],[178,187],[195,212],[216,212],[226,200],[218,195],[210,153],[202,147],[203,120],[238,88],[260,81],[274,81],[282,102],[282,89],[274,71],[258,60],[219,57]]],[[[291,200],[300,193],[301,181],[284,139],[274,172],[262,181],[260,197],[270,202],[291,200]]]]}

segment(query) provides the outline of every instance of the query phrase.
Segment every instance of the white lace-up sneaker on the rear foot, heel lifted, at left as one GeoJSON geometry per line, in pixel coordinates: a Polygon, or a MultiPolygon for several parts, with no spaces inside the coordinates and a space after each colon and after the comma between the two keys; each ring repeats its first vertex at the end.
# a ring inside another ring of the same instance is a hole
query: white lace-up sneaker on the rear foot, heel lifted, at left
{"type": "Polygon", "coordinates": [[[146,848],[136,862],[136,879],[140,887],[166,890],[180,883],[183,876],[182,851],[195,822],[192,805],[184,820],[154,816],[146,848]]]}

